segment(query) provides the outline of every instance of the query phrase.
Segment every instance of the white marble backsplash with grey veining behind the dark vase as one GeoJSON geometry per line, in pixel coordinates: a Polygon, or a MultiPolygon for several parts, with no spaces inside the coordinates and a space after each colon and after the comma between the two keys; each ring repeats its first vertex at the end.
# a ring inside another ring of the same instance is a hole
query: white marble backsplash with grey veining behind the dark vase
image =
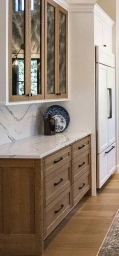
{"type": "Polygon", "coordinates": [[[0,145],[43,133],[47,104],[0,106],[0,145]]]}

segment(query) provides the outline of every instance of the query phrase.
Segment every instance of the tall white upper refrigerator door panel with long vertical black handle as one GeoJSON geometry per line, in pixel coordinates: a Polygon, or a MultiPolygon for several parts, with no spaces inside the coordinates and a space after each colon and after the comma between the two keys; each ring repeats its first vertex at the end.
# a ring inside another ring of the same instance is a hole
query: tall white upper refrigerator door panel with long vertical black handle
{"type": "Polygon", "coordinates": [[[97,64],[97,151],[101,153],[115,141],[115,70],[97,64]]]}

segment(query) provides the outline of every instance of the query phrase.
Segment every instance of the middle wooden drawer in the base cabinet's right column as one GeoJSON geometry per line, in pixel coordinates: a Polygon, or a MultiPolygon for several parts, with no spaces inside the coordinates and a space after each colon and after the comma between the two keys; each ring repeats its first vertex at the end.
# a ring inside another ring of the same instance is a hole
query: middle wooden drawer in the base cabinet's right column
{"type": "Polygon", "coordinates": [[[90,169],[90,149],[73,159],[73,181],[90,169]]]}

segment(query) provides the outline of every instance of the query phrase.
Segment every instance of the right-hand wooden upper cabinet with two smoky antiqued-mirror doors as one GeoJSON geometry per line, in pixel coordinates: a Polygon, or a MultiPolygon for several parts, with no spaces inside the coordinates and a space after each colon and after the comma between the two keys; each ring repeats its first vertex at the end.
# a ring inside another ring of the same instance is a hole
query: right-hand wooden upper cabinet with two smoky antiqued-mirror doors
{"type": "Polygon", "coordinates": [[[68,12],[45,0],[45,99],[68,97],[68,12]]]}

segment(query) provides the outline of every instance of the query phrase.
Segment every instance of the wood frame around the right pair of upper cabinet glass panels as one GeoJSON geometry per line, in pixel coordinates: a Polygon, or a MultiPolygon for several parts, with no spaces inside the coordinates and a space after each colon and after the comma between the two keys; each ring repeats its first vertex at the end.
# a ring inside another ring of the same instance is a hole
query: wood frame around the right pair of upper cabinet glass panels
{"type": "Polygon", "coordinates": [[[45,0],[45,99],[68,98],[68,12],[52,0],[45,0]],[[54,63],[54,94],[47,93],[47,3],[55,8],[55,63],[54,63]],[[59,93],[59,12],[66,15],[66,93],[59,93]]]}

